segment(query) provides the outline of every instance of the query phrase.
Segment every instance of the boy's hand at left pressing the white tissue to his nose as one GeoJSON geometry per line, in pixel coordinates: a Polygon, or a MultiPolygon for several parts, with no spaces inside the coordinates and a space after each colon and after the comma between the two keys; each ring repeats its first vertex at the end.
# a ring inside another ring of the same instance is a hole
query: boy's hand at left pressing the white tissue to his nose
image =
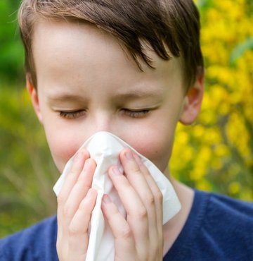
{"type": "Polygon", "coordinates": [[[58,195],[57,253],[60,261],[84,261],[89,243],[88,228],[96,204],[91,183],[96,162],[86,151],[78,152],[58,195]]]}

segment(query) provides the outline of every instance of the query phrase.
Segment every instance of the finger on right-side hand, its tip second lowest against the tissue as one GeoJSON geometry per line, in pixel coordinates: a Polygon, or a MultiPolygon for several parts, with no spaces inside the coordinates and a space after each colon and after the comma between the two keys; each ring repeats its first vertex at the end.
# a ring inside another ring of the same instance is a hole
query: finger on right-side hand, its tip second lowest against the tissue
{"type": "Polygon", "coordinates": [[[117,166],[109,169],[108,174],[113,186],[119,194],[119,198],[126,210],[126,221],[129,223],[136,242],[136,249],[146,253],[148,244],[148,213],[136,190],[131,186],[126,176],[117,166]]]}

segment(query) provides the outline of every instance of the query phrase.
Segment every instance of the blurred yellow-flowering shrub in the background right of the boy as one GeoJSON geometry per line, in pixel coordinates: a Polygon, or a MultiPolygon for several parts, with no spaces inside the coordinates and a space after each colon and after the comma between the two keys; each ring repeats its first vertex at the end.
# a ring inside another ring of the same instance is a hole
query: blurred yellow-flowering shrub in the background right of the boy
{"type": "Polygon", "coordinates": [[[205,95],[193,126],[181,126],[171,172],[189,186],[253,199],[252,1],[196,0],[205,95]]]}

